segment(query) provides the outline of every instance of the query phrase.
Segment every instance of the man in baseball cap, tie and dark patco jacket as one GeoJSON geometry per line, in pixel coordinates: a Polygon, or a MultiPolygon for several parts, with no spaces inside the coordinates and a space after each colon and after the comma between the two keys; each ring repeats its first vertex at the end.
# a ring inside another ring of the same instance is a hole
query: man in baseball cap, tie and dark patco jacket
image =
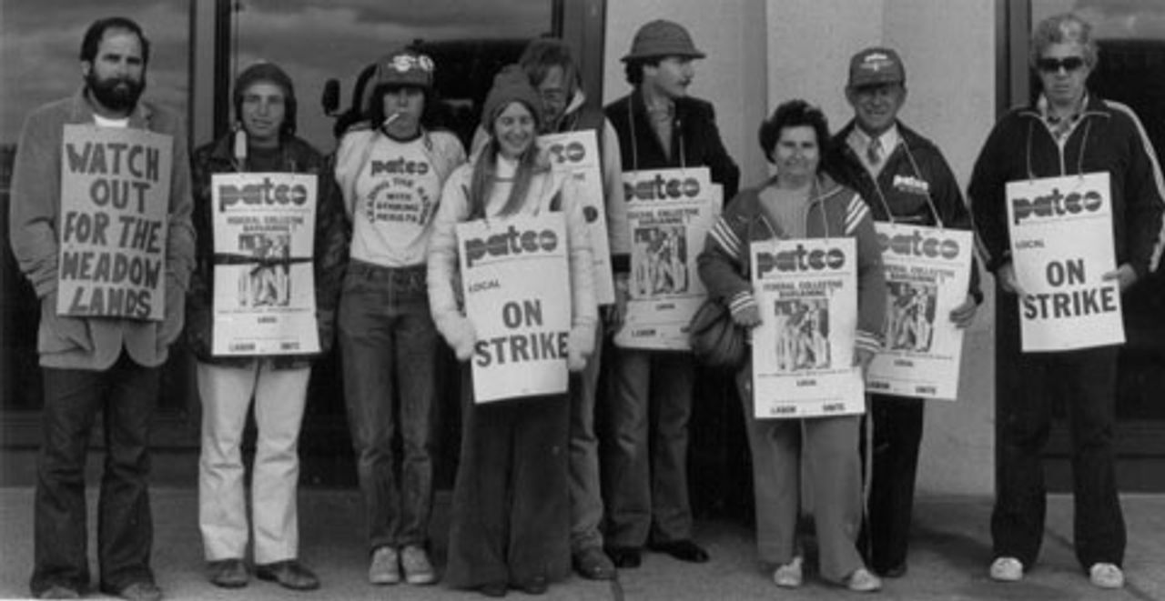
{"type": "MultiPolygon", "coordinates": [[[[846,99],[854,119],[833,136],[826,155],[834,179],[856,190],[876,221],[970,229],[970,213],[942,153],[898,121],[906,100],[906,71],[898,52],[867,48],[855,54],[846,99]]],[[[970,325],[982,297],[973,264],[967,299],[949,319],[959,327],[970,325]]],[[[896,578],[906,571],[923,401],[870,395],[869,418],[873,471],[859,546],[871,570],[896,578]]]]}

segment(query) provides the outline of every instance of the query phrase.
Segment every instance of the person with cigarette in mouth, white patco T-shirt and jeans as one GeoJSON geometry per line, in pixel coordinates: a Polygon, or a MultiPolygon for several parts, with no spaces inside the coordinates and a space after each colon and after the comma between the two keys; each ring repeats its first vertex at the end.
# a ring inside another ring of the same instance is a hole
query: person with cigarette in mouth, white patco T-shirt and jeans
{"type": "Polygon", "coordinates": [[[443,358],[426,250],[442,186],[465,150],[452,133],[429,129],[433,73],[432,59],[409,48],[377,61],[361,100],[368,119],[336,154],[352,224],[339,313],[344,396],[373,585],[436,581],[426,547],[443,358]]]}

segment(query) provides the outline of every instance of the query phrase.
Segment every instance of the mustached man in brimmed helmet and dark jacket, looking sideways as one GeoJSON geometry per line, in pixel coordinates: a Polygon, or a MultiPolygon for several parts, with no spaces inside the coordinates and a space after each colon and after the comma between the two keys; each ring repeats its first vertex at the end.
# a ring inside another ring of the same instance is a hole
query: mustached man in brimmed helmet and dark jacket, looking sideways
{"type": "MultiPolygon", "coordinates": [[[[644,24],[622,58],[634,90],[603,111],[619,134],[623,171],[706,165],[730,198],[740,170],[720,141],[712,105],[687,96],[692,62],[704,56],[683,26],[644,24]]],[[[616,294],[626,297],[622,282],[616,294]]],[[[609,363],[614,444],[603,457],[607,552],[620,567],[638,566],[644,544],[685,561],[706,561],[707,552],[691,539],[687,495],[692,355],[617,347],[615,355],[609,363]]]]}

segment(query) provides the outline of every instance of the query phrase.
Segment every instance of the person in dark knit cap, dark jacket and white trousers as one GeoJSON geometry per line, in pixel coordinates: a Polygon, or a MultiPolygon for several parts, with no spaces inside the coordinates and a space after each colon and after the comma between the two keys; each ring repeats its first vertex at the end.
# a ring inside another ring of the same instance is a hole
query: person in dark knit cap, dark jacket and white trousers
{"type": "MultiPolygon", "coordinates": [[[[197,359],[198,394],[203,403],[202,455],[198,462],[198,525],[203,535],[207,578],[216,586],[247,585],[248,542],[255,573],[264,580],[308,591],[319,579],[299,563],[299,518],[296,489],[298,440],[308,401],[312,355],[216,354],[216,277],[225,267],[216,254],[213,176],[241,172],[298,172],[316,176],[324,160],[295,136],[296,98],[291,78],[273,63],[248,66],[235,79],[234,114],[239,126],[195,150],[195,226],[197,262],[186,296],[186,340],[197,359]],[[223,267],[218,267],[223,266],[223,267]],[[252,519],[247,518],[245,467],[240,453],[247,415],[254,402],[255,459],[250,479],[252,519]],[[254,532],[254,537],[250,533],[254,532]]],[[[316,327],[320,354],[333,338],[338,274],[345,256],[344,215],[339,201],[317,177],[316,232],[312,263],[316,285],[316,327]]],[[[238,235],[238,234],[234,234],[238,235]]],[[[232,242],[234,243],[234,242],[232,242]]],[[[294,277],[287,264],[262,264],[260,274],[294,277]]],[[[254,273],[253,271],[253,273],[254,273]]],[[[289,287],[304,282],[294,280],[289,287]]],[[[266,287],[266,284],[264,284],[266,287]]]]}

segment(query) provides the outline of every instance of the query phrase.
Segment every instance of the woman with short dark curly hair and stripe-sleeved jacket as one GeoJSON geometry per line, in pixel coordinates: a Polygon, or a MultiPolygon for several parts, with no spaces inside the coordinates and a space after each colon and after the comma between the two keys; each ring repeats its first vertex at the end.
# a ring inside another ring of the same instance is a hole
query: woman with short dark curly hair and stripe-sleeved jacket
{"type": "MultiPolygon", "coordinates": [[[[854,360],[863,372],[881,346],[885,282],[873,219],[861,197],[820,172],[829,140],[821,112],[802,100],[777,107],[761,126],[761,147],[776,176],[744,190],[728,204],[699,257],[709,295],[732,309],[733,320],[751,328],[760,309],[747,276],[749,243],[771,238],[850,236],[857,242],[857,332],[854,360]]],[[[820,573],[855,592],[881,588],[855,545],[861,523],[859,416],[761,419],[754,416],[751,362],[737,374],[753,454],[757,549],[776,566],[782,587],[802,584],[797,542],[802,488],[813,499],[820,573]],[[805,457],[805,472],[800,458],[805,457]]]]}

